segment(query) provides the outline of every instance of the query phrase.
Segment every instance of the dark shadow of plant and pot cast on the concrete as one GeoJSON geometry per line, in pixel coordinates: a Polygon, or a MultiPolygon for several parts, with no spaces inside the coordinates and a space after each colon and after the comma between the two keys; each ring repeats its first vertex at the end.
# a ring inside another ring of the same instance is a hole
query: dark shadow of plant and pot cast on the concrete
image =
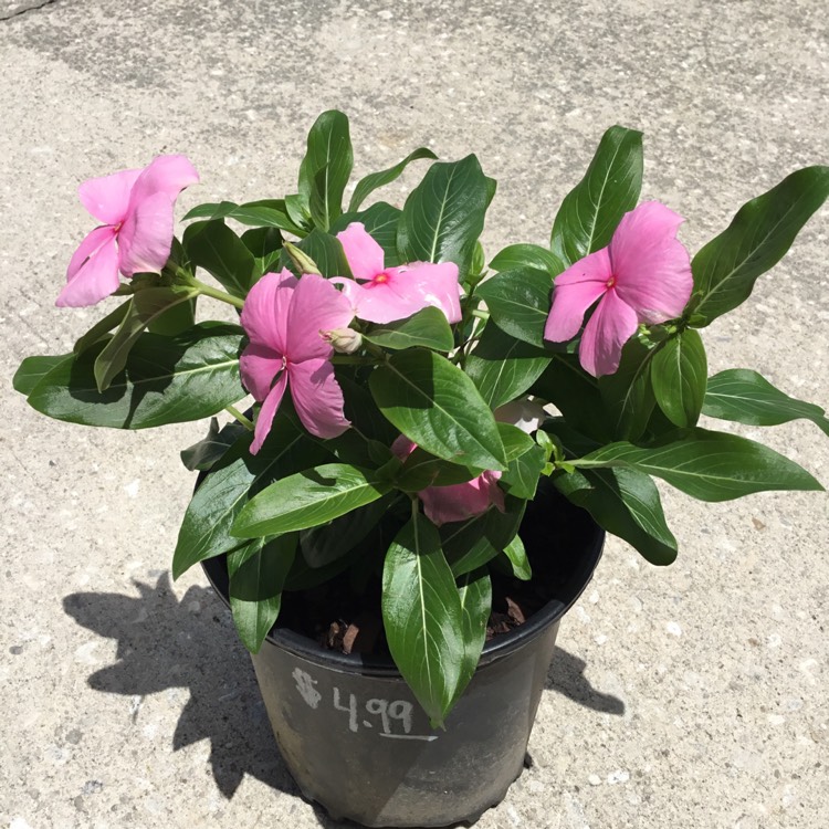
{"type": "MultiPolygon", "coordinates": [[[[135,723],[146,695],[187,689],[174,751],[209,739],[213,779],[228,800],[245,775],[301,797],[276,748],[253,665],[214,591],[192,586],[178,599],[167,573],[155,587],[137,580],[134,585],[138,596],[74,592],[63,600],[78,625],[117,642],[116,662],[92,673],[90,688],[132,696],[135,723]]],[[[585,667],[584,660],[556,648],[545,688],[595,711],[622,714],[625,703],[594,689],[584,676],[585,667]]],[[[324,829],[356,826],[313,806],[324,829]]]]}

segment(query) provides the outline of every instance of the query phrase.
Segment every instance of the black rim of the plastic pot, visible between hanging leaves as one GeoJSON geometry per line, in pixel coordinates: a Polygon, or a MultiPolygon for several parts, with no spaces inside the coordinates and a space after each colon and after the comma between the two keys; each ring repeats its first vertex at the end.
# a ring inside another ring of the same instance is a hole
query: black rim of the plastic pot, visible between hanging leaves
{"type": "MultiPolygon", "coordinates": [[[[571,577],[563,586],[559,595],[533,613],[523,625],[514,628],[508,633],[499,634],[486,642],[481,653],[479,667],[494,662],[525,647],[545,628],[557,623],[576,604],[587,585],[590,584],[605,545],[605,531],[592,520],[590,520],[590,536],[586,539],[584,546],[584,553],[579,556],[571,577]]],[[[219,555],[208,558],[201,562],[201,567],[212,588],[228,609],[230,609],[225,556],[219,555]]],[[[330,670],[343,673],[400,676],[400,671],[390,657],[343,653],[342,651],[328,650],[323,648],[316,640],[296,633],[290,628],[271,628],[265,639],[271,644],[284,648],[295,657],[315,664],[325,665],[330,670]]]]}

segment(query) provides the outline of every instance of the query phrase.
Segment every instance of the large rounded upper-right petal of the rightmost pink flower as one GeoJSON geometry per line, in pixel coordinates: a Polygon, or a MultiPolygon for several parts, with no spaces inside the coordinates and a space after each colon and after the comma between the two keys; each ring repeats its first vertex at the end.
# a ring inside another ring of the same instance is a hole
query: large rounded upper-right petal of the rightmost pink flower
{"type": "Polygon", "coordinates": [[[676,230],[683,218],[658,201],[626,213],[609,253],[619,298],[639,322],[663,323],[681,316],[693,290],[691,258],[676,230]]]}

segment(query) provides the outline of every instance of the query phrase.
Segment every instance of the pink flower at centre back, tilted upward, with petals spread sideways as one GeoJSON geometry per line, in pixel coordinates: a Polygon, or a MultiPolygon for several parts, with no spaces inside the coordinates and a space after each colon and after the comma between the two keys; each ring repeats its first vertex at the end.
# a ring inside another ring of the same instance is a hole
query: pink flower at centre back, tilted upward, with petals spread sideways
{"type": "Polygon", "coordinates": [[[343,293],[355,314],[369,323],[405,319],[434,305],[450,323],[461,318],[461,286],[454,262],[412,262],[399,267],[384,267],[382,248],[360,222],[351,222],[337,233],[355,280],[337,276],[332,282],[343,285],[343,293]]]}

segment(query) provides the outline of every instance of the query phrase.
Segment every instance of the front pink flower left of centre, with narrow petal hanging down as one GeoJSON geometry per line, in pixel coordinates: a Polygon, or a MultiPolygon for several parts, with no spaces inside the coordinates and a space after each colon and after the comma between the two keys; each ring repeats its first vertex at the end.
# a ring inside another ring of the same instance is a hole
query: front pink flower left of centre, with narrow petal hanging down
{"type": "Polygon", "coordinates": [[[334,349],[321,333],[344,328],[353,316],[348,300],[317,274],[297,280],[287,270],[266,273],[251,288],[242,308],[251,342],[240,366],[245,388],[262,402],[252,454],[271,431],[288,385],[296,413],[312,434],[336,438],[349,427],[329,361],[334,349]]]}

